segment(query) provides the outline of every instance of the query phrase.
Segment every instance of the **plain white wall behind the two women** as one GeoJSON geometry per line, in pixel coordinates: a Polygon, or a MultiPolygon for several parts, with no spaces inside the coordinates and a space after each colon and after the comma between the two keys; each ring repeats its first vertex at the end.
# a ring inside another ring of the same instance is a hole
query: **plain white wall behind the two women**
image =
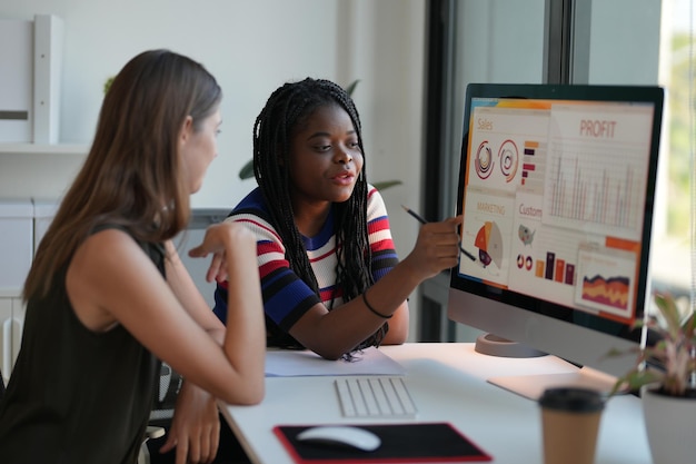
{"type": "MultiPolygon", "coordinates": [[[[105,80],[138,52],[169,48],[202,62],[223,89],[223,125],[196,208],[232,207],[255,187],[237,174],[251,157],[253,120],[278,86],[307,76],[360,79],[354,97],[368,179],[405,184],[384,194],[404,256],[418,228],[399,205],[417,207],[420,198],[425,1],[0,0],[0,18],[63,20],[62,144],[89,144],[105,80]]],[[[81,161],[0,152],[0,199],[59,198],[81,161]]]]}

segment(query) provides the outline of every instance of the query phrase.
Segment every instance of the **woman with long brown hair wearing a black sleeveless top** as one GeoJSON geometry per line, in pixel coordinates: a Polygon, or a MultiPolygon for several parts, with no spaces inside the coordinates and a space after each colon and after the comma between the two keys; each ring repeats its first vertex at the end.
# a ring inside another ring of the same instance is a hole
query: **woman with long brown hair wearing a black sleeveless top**
{"type": "MultiPolygon", "coordinates": [[[[213,225],[189,251],[212,255],[207,278],[231,286],[227,330],[171,241],[217,156],[221,98],[201,65],[167,50],[135,57],[113,80],[26,280],[22,346],[0,403],[0,462],[133,463],[158,359],[186,378],[180,396],[213,417],[216,398],[262,398],[252,234],[213,225]]],[[[198,427],[177,444],[178,461],[210,461],[218,436],[219,423],[198,427]]]]}

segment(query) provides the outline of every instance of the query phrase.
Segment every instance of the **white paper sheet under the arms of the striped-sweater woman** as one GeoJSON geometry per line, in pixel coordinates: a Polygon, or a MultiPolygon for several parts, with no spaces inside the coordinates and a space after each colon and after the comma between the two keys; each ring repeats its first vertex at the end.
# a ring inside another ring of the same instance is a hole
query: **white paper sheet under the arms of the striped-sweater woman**
{"type": "Polygon", "coordinates": [[[267,377],[302,377],[318,375],[404,375],[406,369],[372,347],[354,355],[354,361],[328,361],[311,352],[272,349],[266,352],[267,377]]]}

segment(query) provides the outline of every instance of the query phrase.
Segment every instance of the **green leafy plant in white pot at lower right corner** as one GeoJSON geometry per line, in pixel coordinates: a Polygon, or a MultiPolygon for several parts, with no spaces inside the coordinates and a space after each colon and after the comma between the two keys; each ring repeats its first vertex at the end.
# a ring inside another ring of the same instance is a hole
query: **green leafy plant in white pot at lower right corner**
{"type": "Polygon", "coordinates": [[[687,463],[696,458],[696,314],[686,318],[669,294],[653,296],[660,318],[637,322],[657,342],[638,351],[635,366],[614,392],[639,391],[653,461],[687,463]]]}

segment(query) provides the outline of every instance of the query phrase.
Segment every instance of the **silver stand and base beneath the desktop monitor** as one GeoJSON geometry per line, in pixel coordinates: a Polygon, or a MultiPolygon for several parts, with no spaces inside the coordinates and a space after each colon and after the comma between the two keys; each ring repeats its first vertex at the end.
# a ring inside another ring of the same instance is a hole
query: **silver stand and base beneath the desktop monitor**
{"type": "MultiPolygon", "coordinates": [[[[493,334],[480,335],[476,339],[475,349],[481,354],[501,357],[546,356],[546,353],[493,334]]],[[[616,377],[590,367],[578,367],[577,371],[569,373],[500,376],[490,377],[487,382],[526,398],[538,401],[546,388],[560,386],[591,388],[608,396],[614,388],[616,377]]]]}

